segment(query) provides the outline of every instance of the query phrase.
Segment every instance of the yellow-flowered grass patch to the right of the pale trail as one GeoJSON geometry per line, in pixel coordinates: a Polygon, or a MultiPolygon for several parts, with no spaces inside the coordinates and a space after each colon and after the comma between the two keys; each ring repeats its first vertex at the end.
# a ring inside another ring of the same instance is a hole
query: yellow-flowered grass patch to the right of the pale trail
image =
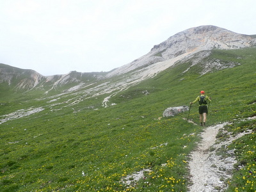
{"type": "MultiPolygon", "coordinates": [[[[256,139],[256,120],[238,121],[234,124],[226,125],[225,131],[233,136],[239,132],[252,132],[246,134],[232,142],[227,148],[222,148],[221,152],[227,156],[227,150],[234,150],[237,163],[234,165],[236,171],[232,179],[226,182],[229,184],[227,191],[255,191],[255,139],[256,139]]],[[[225,140],[227,134],[218,134],[220,140],[225,140]]]]}

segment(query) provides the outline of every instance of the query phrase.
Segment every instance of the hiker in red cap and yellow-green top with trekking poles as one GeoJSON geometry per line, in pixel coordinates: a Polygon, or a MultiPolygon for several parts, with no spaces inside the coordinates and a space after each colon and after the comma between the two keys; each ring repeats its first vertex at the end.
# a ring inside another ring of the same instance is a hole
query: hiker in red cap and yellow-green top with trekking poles
{"type": "Polygon", "coordinates": [[[201,96],[196,97],[196,100],[194,100],[193,102],[191,102],[190,104],[194,104],[195,102],[199,102],[199,120],[200,120],[200,125],[203,126],[203,122],[204,122],[204,126],[206,123],[206,118],[207,118],[207,113],[208,113],[208,109],[207,109],[207,101],[211,102],[211,97],[208,97],[207,95],[204,95],[205,92],[201,91],[201,96]]]}

